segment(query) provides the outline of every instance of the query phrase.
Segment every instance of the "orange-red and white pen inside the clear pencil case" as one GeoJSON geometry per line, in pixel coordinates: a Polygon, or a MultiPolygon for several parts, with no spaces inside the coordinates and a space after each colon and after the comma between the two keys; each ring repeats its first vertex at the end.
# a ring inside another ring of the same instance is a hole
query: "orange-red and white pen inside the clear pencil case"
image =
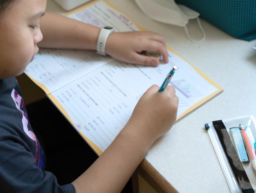
{"type": "Polygon", "coordinates": [[[249,137],[248,137],[248,135],[245,131],[245,128],[244,128],[243,124],[240,123],[239,128],[240,128],[240,132],[242,134],[243,141],[245,143],[245,148],[247,149],[247,153],[249,154],[249,158],[251,158],[252,166],[253,166],[254,170],[256,171],[256,154],[255,154],[255,151],[252,148],[251,142],[249,140],[249,137]]]}

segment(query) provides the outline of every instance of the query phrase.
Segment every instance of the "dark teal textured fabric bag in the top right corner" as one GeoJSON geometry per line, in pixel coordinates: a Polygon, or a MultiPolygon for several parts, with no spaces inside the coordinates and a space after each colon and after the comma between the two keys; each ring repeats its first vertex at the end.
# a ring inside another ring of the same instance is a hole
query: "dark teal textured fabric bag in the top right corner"
{"type": "Polygon", "coordinates": [[[256,0],[175,0],[234,38],[256,39],[256,0]]]}

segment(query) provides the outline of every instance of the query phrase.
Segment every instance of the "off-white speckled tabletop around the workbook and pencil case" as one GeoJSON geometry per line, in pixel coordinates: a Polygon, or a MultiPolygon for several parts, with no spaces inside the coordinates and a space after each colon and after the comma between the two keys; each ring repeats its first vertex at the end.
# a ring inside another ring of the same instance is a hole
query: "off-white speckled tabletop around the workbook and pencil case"
{"type": "MultiPolygon", "coordinates": [[[[139,26],[164,35],[171,49],[224,89],[175,123],[153,144],[146,160],[180,193],[230,192],[204,124],[256,115],[256,41],[235,39],[200,19],[206,39],[193,43],[183,27],[151,20],[134,0],[108,1],[139,26]]],[[[48,0],[47,11],[66,13],[53,0],[48,0]]],[[[202,37],[196,20],[187,27],[192,38],[202,37]]]]}

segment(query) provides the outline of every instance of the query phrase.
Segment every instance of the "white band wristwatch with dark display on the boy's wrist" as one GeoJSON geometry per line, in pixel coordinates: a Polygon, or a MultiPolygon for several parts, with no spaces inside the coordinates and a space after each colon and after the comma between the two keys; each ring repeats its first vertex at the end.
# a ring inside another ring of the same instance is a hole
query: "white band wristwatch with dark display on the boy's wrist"
{"type": "Polygon", "coordinates": [[[97,40],[97,53],[100,55],[107,55],[105,53],[105,46],[108,39],[108,36],[111,33],[114,33],[115,30],[112,27],[106,26],[101,28],[99,32],[98,40],[97,40]]]}

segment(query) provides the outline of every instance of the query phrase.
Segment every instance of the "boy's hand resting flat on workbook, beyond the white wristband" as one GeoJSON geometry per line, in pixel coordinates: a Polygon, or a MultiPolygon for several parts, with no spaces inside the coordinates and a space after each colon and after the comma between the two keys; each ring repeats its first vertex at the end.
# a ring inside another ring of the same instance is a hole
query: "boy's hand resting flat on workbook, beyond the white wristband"
{"type": "Polygon", "coordinates": [[[106,53],[127,63],[158,66],[159,60],[153,56],[141,55],[142,51],[156,51],[168,62],[168,52],[164,37],[151,31],[112,33],[106,42],[106,53]]]}

